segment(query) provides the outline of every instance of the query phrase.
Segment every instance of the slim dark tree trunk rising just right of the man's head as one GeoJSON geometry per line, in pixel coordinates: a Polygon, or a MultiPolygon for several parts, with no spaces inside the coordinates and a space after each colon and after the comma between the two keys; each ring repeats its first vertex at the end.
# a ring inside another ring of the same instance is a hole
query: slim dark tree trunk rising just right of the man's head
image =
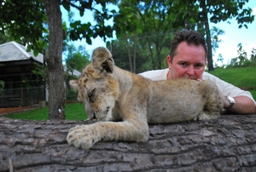
{"type": "Polygon", "coordinates": [[[207,6],[206,6],[206,1],[201,0],[201,8],[203,12],[203,21],[206,26],[206,32],[207,32],[207,64],[208,64],[208,70],[209,71],[214,71],[213,67],[213,61],[212,61],[212,39],[211,39],[211,32],[210,32],[210,27],[209,27],[209,21],[208,21],[208,16],[207,16],[207,6]]]}

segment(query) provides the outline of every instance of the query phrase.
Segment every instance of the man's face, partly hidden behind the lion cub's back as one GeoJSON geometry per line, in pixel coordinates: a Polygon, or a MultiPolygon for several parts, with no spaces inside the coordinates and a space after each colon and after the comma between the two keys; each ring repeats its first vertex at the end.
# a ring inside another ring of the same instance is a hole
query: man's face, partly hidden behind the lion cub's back
{"type": "Polygon", "coordinates": [[[188,45],[183,42],[177,46],[177,54],[172,62],[170,55],[167,56],[167,63],[170,72],[167,79],[184,77],[189,79],[201,79],[206,66],[206,52],[203,46],[188,45]]]}

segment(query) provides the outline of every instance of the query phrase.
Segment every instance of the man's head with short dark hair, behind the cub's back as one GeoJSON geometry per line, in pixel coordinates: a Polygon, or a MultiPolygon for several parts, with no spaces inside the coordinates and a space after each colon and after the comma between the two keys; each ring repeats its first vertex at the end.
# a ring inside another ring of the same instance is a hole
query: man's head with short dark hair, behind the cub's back
{"type": "Polygon", "coordinates": [[[166,60],[170,69],[167,79],[184,77],[201,79],[207,64],[207,46],[199,32],[178,32],[166,60]]]}

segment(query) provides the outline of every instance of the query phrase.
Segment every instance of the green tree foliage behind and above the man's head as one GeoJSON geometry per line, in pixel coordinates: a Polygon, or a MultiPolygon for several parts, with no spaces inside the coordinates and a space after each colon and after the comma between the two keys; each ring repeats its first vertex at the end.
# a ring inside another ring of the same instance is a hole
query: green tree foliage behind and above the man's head
{"type": "Polygon", "coordinates": [[[124,45],[130,60],[129,70],[132,69],[131,58],[135,56],[132,54],[137,54],[137,49],[148,51],[150,62],[147,60],[146,66],[151,70],[163,68],[166,49],[170,49],[173,35],[183,29],[197,30],[207,37],[207,47],[211,51],[208,68],[213,70],[213,67],[209,67],[212,64],[212,49],[213,53],[218,49],[218,43],[221,42],[218,36],[223,35],[224,31],[216,27],[210,31],[209,22],[218,23],[236,17],[239,26],[246,26],[244,24],[251,23],[254,18],[252,9],[243,9],[245,3],[247,1],[243,0],[222,0],[218,3],[199,0],[125,0],[119,3],[119,12],[114,15],[113,29],[118,39],[126,37],[126,44],[130,44],[124,45]],[[220,3],[225,5],[219,6],[220,3]]]}

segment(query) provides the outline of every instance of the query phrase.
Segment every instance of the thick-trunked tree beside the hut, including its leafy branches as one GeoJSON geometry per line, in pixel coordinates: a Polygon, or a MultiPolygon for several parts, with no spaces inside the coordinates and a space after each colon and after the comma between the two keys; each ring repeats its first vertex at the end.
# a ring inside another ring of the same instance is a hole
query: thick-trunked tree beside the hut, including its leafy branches
{"type": "MultiPolygon", "coordinates": [[[[114,1],[111,1],[115,3],[114,1]]],[[[61,9],[63,5],[68,11],[70,7],[78,9],[80,15],[84,10],[95,11],[98,23],[91,26],[90,23],[74,21],[70,24],[73,30],[68,32],[72,40],[85,38],[91,43],[90,37],[111,37],[112,29],[105,25],[105,20],[113,16],[108,12],[105,1],[79,1],[76,0],[27,0],[27,1],[0,1],[0,32],[8,32],[12,37],[20,38],[28,44],[28,50],[34,53],[42,52],[49,45],[45,60],[47,62],[48,84],[49,84],[49,119],[65,118],[65,87],[64,72],[62,67],[63,35],[61,9]],[[94,9],[100,4],[102,9],[94,9]],[[17,14],[13,14],[15,13],[17,14]],[[46,13],[45,13],[46,12],[46,13]],[[47,22],[46,22],[47,21],[47,22]],[[49,37],[48,32],[49,29],[49,37]],[[45,37],[46,36],[46,37],[45,37]],[[47,44],[49,43],[49,44],[47,44]]]]}

